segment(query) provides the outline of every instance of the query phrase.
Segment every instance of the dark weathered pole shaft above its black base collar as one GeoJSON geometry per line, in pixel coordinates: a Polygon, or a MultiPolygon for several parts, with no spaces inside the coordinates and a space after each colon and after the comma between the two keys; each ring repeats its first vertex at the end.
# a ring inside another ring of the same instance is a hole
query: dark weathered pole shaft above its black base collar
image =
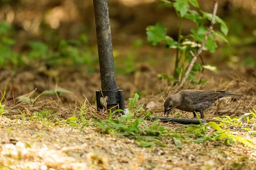
{"type": "Polygon", "coordinates": [[[102,90],[116,89],[108,0],[93,0],[102,90]]]}

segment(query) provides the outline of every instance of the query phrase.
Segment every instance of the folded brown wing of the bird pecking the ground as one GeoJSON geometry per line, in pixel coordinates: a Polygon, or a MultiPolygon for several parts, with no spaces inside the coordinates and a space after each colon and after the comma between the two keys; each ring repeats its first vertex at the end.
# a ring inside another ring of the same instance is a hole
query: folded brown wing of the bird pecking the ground
{"type": "Polygon", "coordinates": [[[225,93],[225,91],[194,91],[186,95],[185,100],[190,100],[192,104],[198,104],[201,102],[214,100],[220,97],[223,93],[225,93]]]}

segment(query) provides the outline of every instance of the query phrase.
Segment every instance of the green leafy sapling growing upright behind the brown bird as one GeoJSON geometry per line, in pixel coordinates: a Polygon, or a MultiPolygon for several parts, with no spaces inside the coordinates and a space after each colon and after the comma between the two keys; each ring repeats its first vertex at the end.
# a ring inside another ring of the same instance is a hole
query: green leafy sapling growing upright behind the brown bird
{"type": "MultiPolygon", "coordinates": [[[[150,25],[146,28],[146,34],[148,37],[148,42],[153,45],[158,45],[161,42],[166,43],[166,49],[176,49],[176,58],[174,66],[173,76],[166,77],[167,79],[172,79],[178,82],[179,75],[184,76],[186,72],[186,63],[192,61],[192,55],[189,51],[197,51],[200,44],[204,41],[207,31],[207,23],[212,20],[212,14],[204,12],[200,9],[199,4],[196,0],[176,0],[175,2],[170,2],[169,0],[161,0],[163,3],[160,7],[174,8],[176,14],[179,18],[179,33],[178,41],[175,41],[172,37],[167,35],[166,27],[161,23],[156,23],[156,25],[150,25]],[[190,5],[197,8],[197,11],[191,10],[190,5]],[[182,22],[184,20],[192,20],[196,24],[196,29],[191,29],[189,35],[182,35],[182,22]]],[[[215,18],[215,22],[220,24],[220,31],[213,31],[210,33],[208,40],[206,41],[203,50],[210,51],[214,53],[217,47],[215,42],[215,37],[218,36],[225,42],[228,42],[226,35],[228,34],[228,27],[226,23],[221,20],[218,16],[215,18]]],[[[203,66],[202,64],[196,62],[192,67],[188,79],[193,80],[195,78],[195,72],[202,71],[203,68],[216,71],[215,66],[203,66]]],[[[161,76],[161,78],[164,78],[161,76]]]]}

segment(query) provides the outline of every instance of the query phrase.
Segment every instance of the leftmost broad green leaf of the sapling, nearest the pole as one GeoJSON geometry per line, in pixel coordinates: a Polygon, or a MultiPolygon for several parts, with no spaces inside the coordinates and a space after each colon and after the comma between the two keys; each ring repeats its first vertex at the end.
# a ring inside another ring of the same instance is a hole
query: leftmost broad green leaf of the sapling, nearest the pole
{"type": "Polygon", "coordinates": [[[166,39],[167,29],[161,23],[156,23],[155,26],[148,26],[146,28],[146,34],[148,36],[148,42],[152,42],[153,45],[157,45],[161,41],[166,39]]]}

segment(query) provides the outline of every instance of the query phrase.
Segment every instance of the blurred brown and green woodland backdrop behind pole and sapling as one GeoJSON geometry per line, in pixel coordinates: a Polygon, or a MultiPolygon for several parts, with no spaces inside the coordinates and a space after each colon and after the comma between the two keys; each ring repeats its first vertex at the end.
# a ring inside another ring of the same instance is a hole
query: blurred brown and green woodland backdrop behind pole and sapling
{"type": "MultiPolygon", "coordinates": [[[[212,13],[214,1],[198,0],[202,10],[212,13]]],[[[168,83],[159,74],[170,75],[175,50],[147,42],[146,27],[162,23],[168,35],[178,38],[179,22],[172,8],[158,8],[159,0],[108,0],[116,66],[117,86],[126,98],[134,92],[160,90],[168,83]]],[[[217,15],[229,28],[229,43],[218,41],[215,53],[204,52],[206,80],[256,77],[256,1],[221,0],[217,15]]],[[[183,35],[196,25],[183,23],[183,35]]],[[[0,82],[7,86],[6,99],[37,88],[37,93],[65,88],[75,93],[66,102],[92,98],[100,88],[100,74],[92,0],[1,0],[0,82]]],[[[218,88],[218,87],[216,87],[218,88]]],[[[214,89],[213,89],[214,90],[214,89]]],[[[65,96],[65,95],[64,95],[65,96]]]]}

